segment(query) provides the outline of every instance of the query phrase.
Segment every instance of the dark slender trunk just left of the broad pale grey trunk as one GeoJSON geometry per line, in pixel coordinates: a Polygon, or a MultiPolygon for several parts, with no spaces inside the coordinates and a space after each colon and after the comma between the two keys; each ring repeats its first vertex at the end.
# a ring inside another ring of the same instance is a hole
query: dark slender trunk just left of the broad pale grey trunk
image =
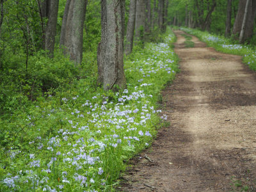
{"type": "Polygon", "coordinates": [[[59,0],[51,0],[49,6],[48,22],[45,31],[45,49],[49,51],[50,57],[53,57],[54,52],[58,8],[59,0]]]}

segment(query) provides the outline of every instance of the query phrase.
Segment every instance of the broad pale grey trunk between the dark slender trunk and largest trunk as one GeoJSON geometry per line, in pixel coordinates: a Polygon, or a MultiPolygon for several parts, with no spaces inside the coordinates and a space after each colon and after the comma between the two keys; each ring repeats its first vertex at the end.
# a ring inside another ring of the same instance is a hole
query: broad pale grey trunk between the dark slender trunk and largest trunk
{"type": "Polygon", "coordinates": [[[71,0],[67,1],[64,15],[67,20],[63,19],[61,33],[63,40],[61,46],[65,48],[65,54],[69,54],[70,60],[79,65],[83,58],[83,26],[86,13],[87,0],[71,0]],[[64,31],[63,31],[64,30],[64,31]]]}

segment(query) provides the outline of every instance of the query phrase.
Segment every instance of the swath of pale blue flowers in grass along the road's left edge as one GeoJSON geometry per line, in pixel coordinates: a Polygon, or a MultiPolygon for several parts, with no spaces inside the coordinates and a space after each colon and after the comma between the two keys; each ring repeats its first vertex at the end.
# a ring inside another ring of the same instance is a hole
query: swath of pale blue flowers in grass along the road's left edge
{"type": "MultiPolygon", "coordinates": [[[[173,38],[169,35],[166,42],[173,38]]],[[[21,187],[42,191],[65,191],[70,186],[79,191],[104,189],[111,174],[119,172],[122,165],[118,163],[122,164],[136,148],[150,145],[156,134],[154,123],[159,121],[157,114],[161,113],[155,109],[156,98],[151,93],[158,86],[157,78],[164,74],[168,81],[175,74],[174,53],[167,43],[148,44],[146,49],[154,55],[130,63],[126,72],[136,72],[140,78],[134,86],[128,84],[126,90],[116,93],[116,99],[100,93],[91,99],[79,95],[62,98],[63,108],[52,109],[47,116],[54,116],[58,110],[67,113],[63,126],[54,136],[29,141],[30,154],[10,150],[13,160],[23,156],[26,165],[17,174],[6,175],[1,184],[12,191],[21,187]],[[68,105],[71,102],[81,102],[81,106],[72,108],[68,105]]],[[[167,116],[161,118],[166,120],[167,116]]]]}

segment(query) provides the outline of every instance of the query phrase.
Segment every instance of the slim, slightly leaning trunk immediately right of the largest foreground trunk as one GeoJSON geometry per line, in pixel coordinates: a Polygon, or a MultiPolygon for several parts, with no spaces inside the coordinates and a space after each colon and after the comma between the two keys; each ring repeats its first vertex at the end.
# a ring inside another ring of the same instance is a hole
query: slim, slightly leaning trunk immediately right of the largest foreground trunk
{"type": "Polygon", "coordinates": [[[129,54],[132,52],[135,18],[136,18],[136,0],[131,0],[130,10],[129,10],[129,20],[128,20],[127,32],[126,32],[127,43],[125,45],[125,54],[129,54]]]}

